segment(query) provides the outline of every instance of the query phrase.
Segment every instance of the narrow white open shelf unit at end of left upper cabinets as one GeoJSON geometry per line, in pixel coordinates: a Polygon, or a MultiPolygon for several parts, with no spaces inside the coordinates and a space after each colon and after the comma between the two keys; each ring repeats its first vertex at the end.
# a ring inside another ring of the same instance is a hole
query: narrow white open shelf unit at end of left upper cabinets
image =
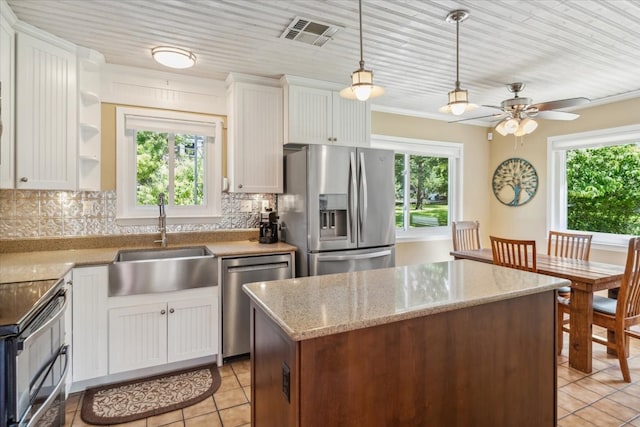
{"type": "Polygon", "coordinates": [[[78,189],[100,190],[102,55],[78,49],[78,189]]]}

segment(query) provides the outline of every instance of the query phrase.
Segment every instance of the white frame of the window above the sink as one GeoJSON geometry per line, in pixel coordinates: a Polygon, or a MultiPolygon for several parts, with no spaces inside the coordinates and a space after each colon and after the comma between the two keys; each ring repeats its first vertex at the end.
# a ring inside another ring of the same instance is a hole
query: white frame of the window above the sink
{"type": "MultiPolygon", "coordinates": [[[[206,204],[167,206],[167,224],[219,222],[222,218],[222,119],[197,113],[130,107],[116,107],[116,222],[119,225],[148,225],[158,220],[157,206],[138,206],[136,203],[137,141],[135,133],[126,129],[127,116],[158,123],[185,122],[195,127],[214,127],[214,135],[208,136],[205,143],[206,204]]],[[[184,130],[176,128],[172,133],[184,133],[184,130]]]]}

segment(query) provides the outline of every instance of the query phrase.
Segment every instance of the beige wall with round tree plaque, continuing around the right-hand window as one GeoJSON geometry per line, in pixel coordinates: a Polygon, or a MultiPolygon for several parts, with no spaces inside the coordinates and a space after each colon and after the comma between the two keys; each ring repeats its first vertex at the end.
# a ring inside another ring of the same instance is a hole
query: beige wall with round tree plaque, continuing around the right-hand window
{"type": "MultiPolygon", "coordinates": [[[[514,149],[513,135],[503,137],[494,132],[490,144],[489,173],[510,157],[528,160],[538,173],[538,192],[530,202],[519,207],[508,207],[490,197],[490,221],[485,231],[513,238],[534,238],[546,250],[547,216],[547,138],[577,132],[593,131],[640,123],[640,98],[594,106],[576,111],[580,117],[573,121],[539,120],[538,128],[524,138],[524,144],[514,149]]],[[[489,184],[487,184],[489,185],[489,184]]],[[[591,259],[624,264],[624,252],[595,249],[591,259]]]]}

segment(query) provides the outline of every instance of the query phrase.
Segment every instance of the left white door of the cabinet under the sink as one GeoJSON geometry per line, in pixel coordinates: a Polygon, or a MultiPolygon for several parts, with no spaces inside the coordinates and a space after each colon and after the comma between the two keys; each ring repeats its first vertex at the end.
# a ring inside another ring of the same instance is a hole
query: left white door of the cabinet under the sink
{"type": "Polygon", "coordinates": [[[167,362],[166,303],[109,310],[109,374],[167,362]]]}

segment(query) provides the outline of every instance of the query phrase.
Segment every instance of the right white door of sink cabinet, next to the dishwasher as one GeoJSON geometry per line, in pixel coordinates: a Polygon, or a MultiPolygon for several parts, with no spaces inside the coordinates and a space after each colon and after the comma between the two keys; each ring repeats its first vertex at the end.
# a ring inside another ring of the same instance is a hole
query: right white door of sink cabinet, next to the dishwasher
{"type": "Polygon", "coordinates": [[[218,299],[210,296],[169,302],[167,361],[218,353],[218,299]]]}

